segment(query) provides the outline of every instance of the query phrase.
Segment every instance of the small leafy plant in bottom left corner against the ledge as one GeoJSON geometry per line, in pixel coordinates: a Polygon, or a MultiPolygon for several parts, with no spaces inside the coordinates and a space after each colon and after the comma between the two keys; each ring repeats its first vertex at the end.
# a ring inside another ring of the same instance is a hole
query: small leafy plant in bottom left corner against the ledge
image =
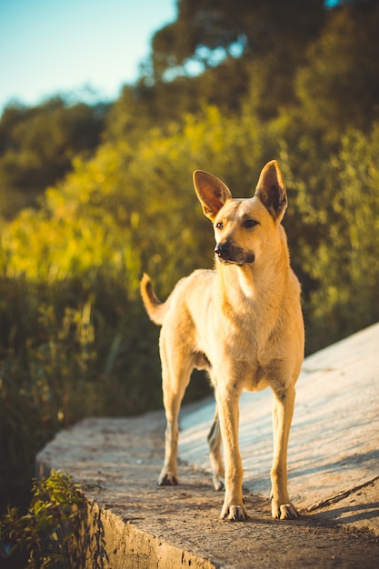
{"type": "Polygon", "coordinates": [[[9,508],[0,519],[0,557],[34,569],[85,567],[87,505],[70,476],[35,481],[25,515],[9,508]]]}

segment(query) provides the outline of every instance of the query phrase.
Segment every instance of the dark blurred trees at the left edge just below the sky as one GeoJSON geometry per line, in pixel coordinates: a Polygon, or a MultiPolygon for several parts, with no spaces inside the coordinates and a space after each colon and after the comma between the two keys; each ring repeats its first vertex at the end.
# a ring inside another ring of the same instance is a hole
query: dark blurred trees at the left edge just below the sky
{"type": "Polygon", "coordinates": [[[12,218],[36,205],[48,185],[70,169],[75,155],[92,151],[103,109],[54,98],[28,108],[8,105],[0,120],[0,215],[12,218]]]}

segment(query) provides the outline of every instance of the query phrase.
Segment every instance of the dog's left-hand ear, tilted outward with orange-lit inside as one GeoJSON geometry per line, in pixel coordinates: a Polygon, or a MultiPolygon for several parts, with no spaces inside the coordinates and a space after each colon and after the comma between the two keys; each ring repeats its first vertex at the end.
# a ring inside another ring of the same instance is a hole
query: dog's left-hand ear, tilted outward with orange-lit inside
{"type": "Polygon", "coordinates": [[[203,170],[194,171],[194,189],[203,205],[204,214],[211,221],[214,221],[224,203],[232,199],[232,194],[224,182],[203,170]]]}

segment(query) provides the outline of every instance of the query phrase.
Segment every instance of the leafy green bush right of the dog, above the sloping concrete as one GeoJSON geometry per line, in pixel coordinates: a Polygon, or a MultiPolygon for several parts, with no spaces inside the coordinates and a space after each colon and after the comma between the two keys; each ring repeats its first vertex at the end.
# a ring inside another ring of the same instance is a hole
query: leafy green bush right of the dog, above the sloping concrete
{"type": "Polygon", "coordinates": [[[379,125],[348,130],[325,178],[324,240],[304,269],[319,286],[311,295],[313,338],[325,343],[379,320],[379,125]]]}

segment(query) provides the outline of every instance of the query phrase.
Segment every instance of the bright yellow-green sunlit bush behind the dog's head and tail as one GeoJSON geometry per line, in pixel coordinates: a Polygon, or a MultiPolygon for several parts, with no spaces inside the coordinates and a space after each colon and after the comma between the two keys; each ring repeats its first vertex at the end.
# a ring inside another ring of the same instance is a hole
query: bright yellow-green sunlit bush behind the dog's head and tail
{"type": "Polygon", "coordinates": [[[226,180],[238,176],[238,191],[248,195],[249,166],[256,172],[262,162],[260,135],[253,117],[241,122],[209,107],[168,135],[152,129],[136,148],[105,144],[90,161],[75,159],[38,212],[24,210],[4,227],[6,275],[52,284],[101,273],[122,282],[126,300],[134,301],[147,270],[167,294],[178,275],[212,264],[212,230],[194,198],[192,172],[206,167],[226,180]]]}

